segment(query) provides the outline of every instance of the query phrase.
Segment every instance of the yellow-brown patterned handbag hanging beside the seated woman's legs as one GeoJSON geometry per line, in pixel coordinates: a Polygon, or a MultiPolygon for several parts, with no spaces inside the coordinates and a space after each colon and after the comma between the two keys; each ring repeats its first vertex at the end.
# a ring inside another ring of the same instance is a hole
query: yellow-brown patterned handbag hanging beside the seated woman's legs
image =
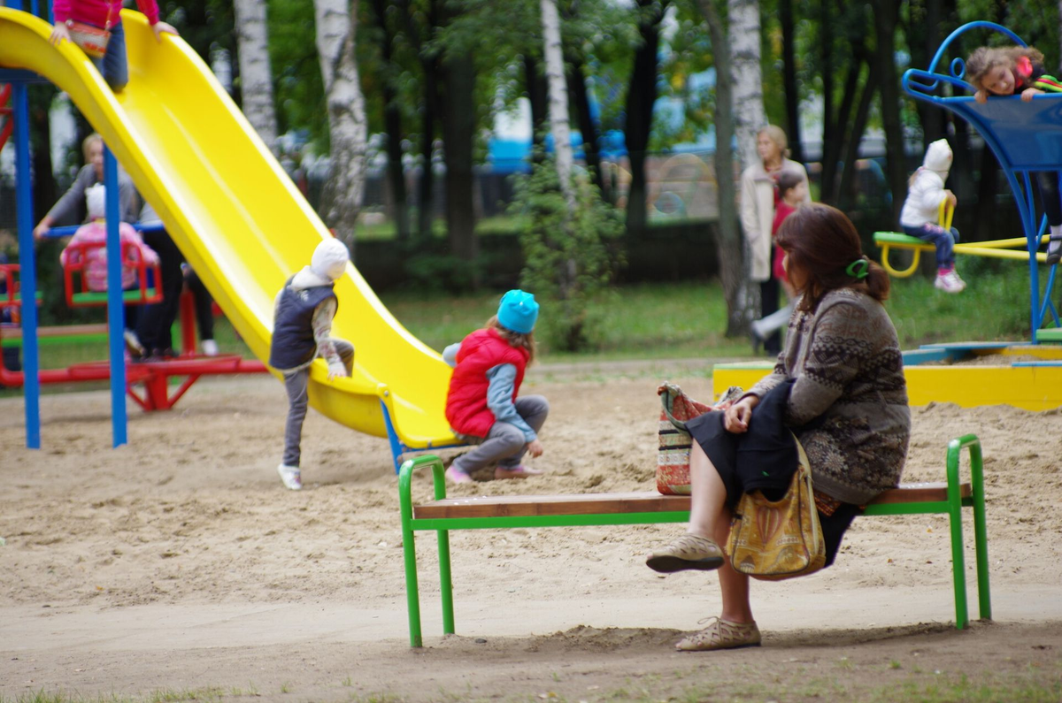
{"type": "Polygon", "coordinates": [[[811,491],[811,468],[796,438],[799,465],[785,497],[770,501],[759,491],[741,496],[734,510],[727,553],[740,573],[783,581],[815,573],[826,562],[822,526],[811,491]]]}

